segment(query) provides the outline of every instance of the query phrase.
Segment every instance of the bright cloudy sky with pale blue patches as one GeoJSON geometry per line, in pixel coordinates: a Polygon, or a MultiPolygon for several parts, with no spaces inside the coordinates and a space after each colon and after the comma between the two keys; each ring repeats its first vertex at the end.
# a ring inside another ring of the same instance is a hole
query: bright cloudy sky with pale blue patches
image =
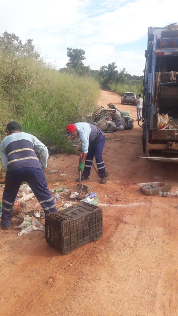
{"type": "Polygon", "coordinates": [[[56,69],[72,47],[85,51],[90,69],[115,62],[118,71],[142,76],[148,27],[178,24],[177,7],[177,0],[9,0],[1,3],[0,35],[32,39],[56,69]]]}

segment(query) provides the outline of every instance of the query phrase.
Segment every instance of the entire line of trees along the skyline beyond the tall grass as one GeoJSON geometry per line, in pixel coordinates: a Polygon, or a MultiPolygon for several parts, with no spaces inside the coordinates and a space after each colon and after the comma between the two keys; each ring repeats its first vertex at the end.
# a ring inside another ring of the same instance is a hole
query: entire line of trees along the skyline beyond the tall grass
{"type": "MultiPolygon", "coordinates": [[[[10,53],[13,58],[28,56],[35,60],[40,60],[43,64],[43,59],[35,51],[33,40],[28,39],[25,44],[22,44],[21,39],[15,33],[10,34],[5,31],[0,36],[0,52],[10,53]]],[[[66,63],[66,67],[61,68],[59,71],[77,74],[78,76],[92,76],[100,82],[101,88],[108,88],[113,83],[132,85],[143,82],[144,76],[132,76],[127,73],[124,67],[118,71],[115,62],[107,66],[101,66],[100,70],[92,70],[90,66],[83,64],[83,61],[86,59],[84,55],[85,51],[83,49],[67,47],[69,61],[66,63]]]]}

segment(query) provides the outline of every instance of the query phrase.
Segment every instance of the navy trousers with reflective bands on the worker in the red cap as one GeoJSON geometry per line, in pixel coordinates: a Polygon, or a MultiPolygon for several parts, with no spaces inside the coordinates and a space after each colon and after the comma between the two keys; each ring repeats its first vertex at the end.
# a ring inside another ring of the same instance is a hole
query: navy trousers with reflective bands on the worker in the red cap
{"type": "Polygon", "coordinates": [[[105,136],[103,137],[103,139],[99,141],[89,142],[89,149],[88,149],[88,154],[85,159],[85,167],[83,170],[83,176],[86,177],[90,175],[92,161],[93,161],[93,158],[95,157],[96,165],[97,165],[98,173],[100,177],[103,177],[103,176],[106,177],[105,165],[102,158],[104,143],[105,143],[105,136]]]}

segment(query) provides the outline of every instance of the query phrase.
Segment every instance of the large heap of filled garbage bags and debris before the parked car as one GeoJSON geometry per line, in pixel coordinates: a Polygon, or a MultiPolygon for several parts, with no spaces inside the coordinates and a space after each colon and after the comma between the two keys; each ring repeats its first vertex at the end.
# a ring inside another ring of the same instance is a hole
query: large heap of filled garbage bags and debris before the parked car
{"type": "Polygon", "coordinates": [[[107,108],[100,106],[90,117],[89,123],[106,132],[133,129],[133,119],[129,111],[120,111],[113,103],[107,106],[107,108]]]}

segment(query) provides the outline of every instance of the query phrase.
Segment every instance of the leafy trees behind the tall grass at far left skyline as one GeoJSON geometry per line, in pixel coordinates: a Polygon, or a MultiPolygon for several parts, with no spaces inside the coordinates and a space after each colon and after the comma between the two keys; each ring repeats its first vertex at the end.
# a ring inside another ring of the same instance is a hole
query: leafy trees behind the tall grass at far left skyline
{"type": "Polygon", "coordinates": [[[8,33],[5,31],[0,36],[0,51],[11,53],[14,57],[17,56],[31,56],[38,59],[40,55],[34,50],[33,40],[26,40],[23,45],[20,38],[15,33],[8,33]]]}

